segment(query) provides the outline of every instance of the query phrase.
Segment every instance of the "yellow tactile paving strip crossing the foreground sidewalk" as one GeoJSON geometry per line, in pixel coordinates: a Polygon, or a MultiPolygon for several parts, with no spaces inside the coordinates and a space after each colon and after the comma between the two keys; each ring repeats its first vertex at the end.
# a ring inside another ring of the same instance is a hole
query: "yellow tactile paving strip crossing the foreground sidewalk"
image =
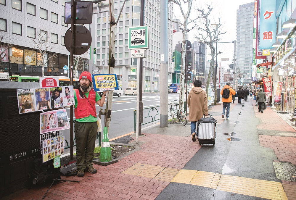
{"type": "Polygon", "coordinates": [[[221,175],[214,172],[196,170],[175,170],[141,163],[131,166],[122,173],[163,181],[191,184],[265,199],[287,200],[282,184],[275,181],[221,175]]]}

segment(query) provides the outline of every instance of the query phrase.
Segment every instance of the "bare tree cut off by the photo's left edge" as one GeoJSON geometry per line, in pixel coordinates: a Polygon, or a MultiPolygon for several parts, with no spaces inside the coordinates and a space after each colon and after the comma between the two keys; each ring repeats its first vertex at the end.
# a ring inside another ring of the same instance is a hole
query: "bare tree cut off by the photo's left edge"
{"type": "Polygon", "coordinates": [[[8,62],[6,58],[8,56],[9,48],[12,46],[11,38],[7,35],[7,32],[0,31],[0,71],[3,70],[2,62],[8,62]]]}

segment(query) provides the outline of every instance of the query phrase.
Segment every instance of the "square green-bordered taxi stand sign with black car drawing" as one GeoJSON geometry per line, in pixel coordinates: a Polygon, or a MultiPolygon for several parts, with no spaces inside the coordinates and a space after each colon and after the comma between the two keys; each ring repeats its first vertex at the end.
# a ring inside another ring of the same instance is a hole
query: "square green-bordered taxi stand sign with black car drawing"
{"type": "Polygon", "coordinates": [[[128,28],[128,49],[149,49],[148,26],[128,28]]]}

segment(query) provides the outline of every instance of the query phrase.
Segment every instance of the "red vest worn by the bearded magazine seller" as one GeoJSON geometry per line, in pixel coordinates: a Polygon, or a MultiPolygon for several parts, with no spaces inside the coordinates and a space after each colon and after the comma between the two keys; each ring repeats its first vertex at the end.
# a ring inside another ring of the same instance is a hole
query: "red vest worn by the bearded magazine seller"
{"type": "Polygon", "coordinates": [[[74,109],[75,118],[81,119],[83,117],[88,117],[89,115],[96,117],[96,92],[91,89],[87,99],[86,97],[82,98],[80,96],[78,89],[75,89],[75,93],[77,99],[77,107],[74,109]]]}

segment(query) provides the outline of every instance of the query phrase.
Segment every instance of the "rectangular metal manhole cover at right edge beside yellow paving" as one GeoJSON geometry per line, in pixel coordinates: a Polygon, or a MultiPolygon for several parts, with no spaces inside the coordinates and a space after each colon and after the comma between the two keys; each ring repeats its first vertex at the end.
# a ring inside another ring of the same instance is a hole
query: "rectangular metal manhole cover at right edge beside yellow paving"
{"type": "Polygon", "coordinates": [[[278,179],[296,182],[296,166],[294,164],[274,162],[274,171],[278,179]]]}

